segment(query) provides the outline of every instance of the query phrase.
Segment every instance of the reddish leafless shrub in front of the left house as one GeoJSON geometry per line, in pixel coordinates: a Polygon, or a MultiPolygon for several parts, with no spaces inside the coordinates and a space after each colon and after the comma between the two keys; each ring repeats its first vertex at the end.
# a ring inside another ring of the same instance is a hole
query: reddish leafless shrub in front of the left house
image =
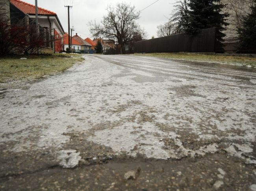
{"type": "Polygon", "coordinates": [[[0,17],[0,55],[24,53],[35,54],[48,47],[52,41],[60,38],[49,38],[51,29],[40,27],[36,33],[35,24],[26,23],[26,19],[11,23],[8,17],[0,17]]]}

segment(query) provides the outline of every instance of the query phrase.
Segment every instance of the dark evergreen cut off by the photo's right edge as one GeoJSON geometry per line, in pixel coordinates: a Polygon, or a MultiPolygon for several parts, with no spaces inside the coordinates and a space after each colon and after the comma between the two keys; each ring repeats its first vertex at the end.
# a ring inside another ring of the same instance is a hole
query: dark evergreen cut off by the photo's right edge
{"type": "Polygon", "coordinates": [[[251,6],[251,13],[243,17],[242,27],[237,30],[241,40],[241,53],[255,53],[256,51],[256,0],[251,6]]]}

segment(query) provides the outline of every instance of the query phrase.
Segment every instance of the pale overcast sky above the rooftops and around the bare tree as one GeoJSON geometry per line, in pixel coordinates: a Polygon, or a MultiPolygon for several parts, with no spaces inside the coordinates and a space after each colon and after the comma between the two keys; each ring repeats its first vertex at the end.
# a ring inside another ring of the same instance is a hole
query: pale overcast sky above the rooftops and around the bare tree
{"type": "MultiPolygon", "coordinates": [[[[23,0],[35,5],[35,0],[23,0]]],[[[137,11],[144,9],[156,0],[38,0],[38,6],[57,13],[65,31],[68,31],[67,8],[64,5],[73,5],[70,9],[71,26],[74,26],[75,33],[82,38],[92,36],[89,33],[88,21],[100,22],[102,16],[106,15],[108,4],[127,2],[135,5],[137,11]]],[[[139,24],[148,33],[148,38],[156,35],[156,26],[167,22],[167,18],[173,10],[175,0],[159,0],[141,12],[139,24]]]]}

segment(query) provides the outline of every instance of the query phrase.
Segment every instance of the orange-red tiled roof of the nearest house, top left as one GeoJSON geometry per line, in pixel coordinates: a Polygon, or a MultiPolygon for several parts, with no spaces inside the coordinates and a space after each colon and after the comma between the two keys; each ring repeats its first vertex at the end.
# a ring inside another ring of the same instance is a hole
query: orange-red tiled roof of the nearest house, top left
{"type": "MultiPolygon", "coordinates": [[[[20,9],[23,13],[35,15],[35,5],[20,1],[20,0],[10,0],[11,4],[20,9]]],[[[48,11],[41,7],[38,7],[38,15],[57,15],[52,11],[48,11]]]]}

